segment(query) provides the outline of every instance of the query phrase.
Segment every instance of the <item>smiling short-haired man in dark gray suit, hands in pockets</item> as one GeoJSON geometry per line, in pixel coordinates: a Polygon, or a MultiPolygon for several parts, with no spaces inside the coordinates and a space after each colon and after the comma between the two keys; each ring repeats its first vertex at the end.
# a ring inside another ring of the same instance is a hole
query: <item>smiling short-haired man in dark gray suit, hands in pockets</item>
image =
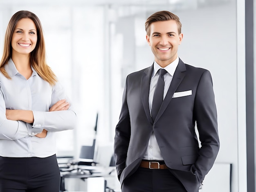
{"type": "Polygon", "coordinates": [[[116,126],[114,155],[122,192],[198,192],[218,154],[211,74],[178,57],[181,26],[169,11],[146,20],[155,61],[127,76],[116,126]]]}

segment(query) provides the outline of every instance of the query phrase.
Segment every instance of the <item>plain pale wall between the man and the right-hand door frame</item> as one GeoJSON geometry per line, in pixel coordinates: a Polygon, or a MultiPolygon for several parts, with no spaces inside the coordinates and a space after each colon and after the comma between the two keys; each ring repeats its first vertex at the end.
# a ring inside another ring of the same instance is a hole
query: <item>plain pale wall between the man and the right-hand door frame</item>
{"type": "Polygon", "coordinates": [[[220,151],[216,162],[232,164],[231,188],[232,192],[238,192],[236,2],[178,15],[184,26],[180,57],[185,63],[211,71],[220,136],[220,151]]]}

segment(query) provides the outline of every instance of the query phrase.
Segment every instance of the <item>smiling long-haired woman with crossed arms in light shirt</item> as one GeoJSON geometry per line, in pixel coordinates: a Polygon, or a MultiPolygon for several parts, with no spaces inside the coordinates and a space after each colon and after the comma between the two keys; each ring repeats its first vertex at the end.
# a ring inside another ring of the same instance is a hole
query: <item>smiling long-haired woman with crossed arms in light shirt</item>
{"type": "Polygon", "coordinates": [[[55,134],[75,125],[70,100],[45,61],[40,20],[18,11],[0,62],[0,191],[59,192],[55,134]]]}

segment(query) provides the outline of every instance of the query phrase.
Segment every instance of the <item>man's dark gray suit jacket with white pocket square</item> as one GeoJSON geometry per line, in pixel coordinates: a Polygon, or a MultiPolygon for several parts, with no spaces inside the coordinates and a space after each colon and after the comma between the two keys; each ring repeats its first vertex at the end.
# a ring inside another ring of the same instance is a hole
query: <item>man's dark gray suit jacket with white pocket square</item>
{"type": "Polygon", "coordinates": [[[170,171],[188,192],[198,192],[220,147],[211,74],[179,60],[153,122],[148,104],[152,71],[153,65],[126,78],[114,143],[117,175],[122,184],[137,170],[154,132],[170,171]]]}

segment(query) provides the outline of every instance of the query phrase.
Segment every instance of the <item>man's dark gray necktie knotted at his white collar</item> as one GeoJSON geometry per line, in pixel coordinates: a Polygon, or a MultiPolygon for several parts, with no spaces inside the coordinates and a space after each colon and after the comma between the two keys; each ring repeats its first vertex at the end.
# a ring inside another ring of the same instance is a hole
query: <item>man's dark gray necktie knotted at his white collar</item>
{"type": "Polygon", "coordinates": [[[152,110],[151,116],[153,121],[155,121],[155,117],[158,114],[158,111],[163,103],[164,99],[164,74],[167,73],[165,69],[159,69],[157,71],[159,73],[159,78],[157,80],[157,85],[155,87],[155,93],[153,96],[152,110]]]}

